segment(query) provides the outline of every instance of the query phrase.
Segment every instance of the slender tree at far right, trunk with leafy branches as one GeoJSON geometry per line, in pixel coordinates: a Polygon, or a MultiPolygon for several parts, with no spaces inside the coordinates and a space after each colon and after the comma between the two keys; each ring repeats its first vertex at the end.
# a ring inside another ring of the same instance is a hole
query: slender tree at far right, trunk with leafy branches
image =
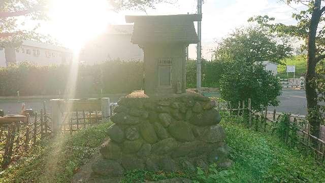
{"type": "MultiPolygon", "coordinates": [[[[293,17],[298,21],[296,25],[272,23],[274,18],[269,16],[257,16],[249,21],[256,21],[262,26],[269,27],[272,32],[280,35],[289,35],[301,38],[305,41],[303,48],[307,49],[307,73],[306,73],[306,98],[308,119],[311,126],[311,134],[319,136],[319,127],[322,116],[319,112],[316,65],[325,58],[325,6],[324,0],[286,0],[287,4],[300,3],[306,9],[300,13],[294,13],[293,17]]],[[[315,142],[315,141],[314,141],[315,142]]]]}

